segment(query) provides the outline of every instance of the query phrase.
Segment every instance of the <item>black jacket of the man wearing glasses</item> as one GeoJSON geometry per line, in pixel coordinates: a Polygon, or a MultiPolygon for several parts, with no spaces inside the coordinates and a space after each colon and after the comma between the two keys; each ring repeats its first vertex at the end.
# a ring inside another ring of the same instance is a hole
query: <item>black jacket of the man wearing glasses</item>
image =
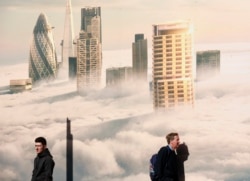
{"type": "Polygon", "coordinates": [[[53,181],[53,169],[55,162],[49,150],[37,154],[34,160],[34,170],[31,181],[53,181]]]}

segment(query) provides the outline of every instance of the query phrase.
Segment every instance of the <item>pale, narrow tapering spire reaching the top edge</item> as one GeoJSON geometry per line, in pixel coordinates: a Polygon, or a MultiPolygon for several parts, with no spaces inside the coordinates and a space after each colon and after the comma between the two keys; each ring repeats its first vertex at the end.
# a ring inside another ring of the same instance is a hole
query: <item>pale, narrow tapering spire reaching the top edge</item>
{"type": "Polygon", "coordinates": [[[73,28],[71,0],[67,0],[65,21],[64,21],[64,34],[62,40],[62,66],[66,70],[67,76],[69,71],[69,57],[75,56],[73,41],[74,41],[74,28],[73,28]]]}

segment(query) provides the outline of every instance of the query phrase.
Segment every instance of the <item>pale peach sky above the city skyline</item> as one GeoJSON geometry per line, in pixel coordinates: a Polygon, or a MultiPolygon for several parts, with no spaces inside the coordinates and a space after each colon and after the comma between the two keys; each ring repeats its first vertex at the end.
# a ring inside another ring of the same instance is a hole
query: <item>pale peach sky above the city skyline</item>
{"type": "MultiPolygon", "coordinates": [[[[28,61],[32,31],[41,12],[55,27],[61,54],[66,0],[0,1],[0,65],[28,61]]],[[[80,30],[80,11],[102,8],[103,50],[130,49],[136,33],[151,47],[152,25],[191,20],[195,43],[250,42],[249,0],[72,0],[74,32],[80,30]]]]}

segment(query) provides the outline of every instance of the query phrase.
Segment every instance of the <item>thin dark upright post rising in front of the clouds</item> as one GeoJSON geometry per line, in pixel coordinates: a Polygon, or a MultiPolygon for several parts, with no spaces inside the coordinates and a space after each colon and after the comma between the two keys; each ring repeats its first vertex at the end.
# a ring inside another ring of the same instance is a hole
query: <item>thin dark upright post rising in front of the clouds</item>
{"type": "Polygon", "coordinates": [[[73,135],[71,134],[71,121],[67,118],[67,143],[66,143],[66,181],[73,181],[73,135]]]}

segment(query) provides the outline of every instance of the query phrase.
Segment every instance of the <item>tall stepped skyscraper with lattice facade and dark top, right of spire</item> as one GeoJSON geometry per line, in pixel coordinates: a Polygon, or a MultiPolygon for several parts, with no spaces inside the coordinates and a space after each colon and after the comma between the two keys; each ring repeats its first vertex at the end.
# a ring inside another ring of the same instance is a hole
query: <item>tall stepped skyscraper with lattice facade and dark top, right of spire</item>
{"type": "Polygon", "coordinates": [[[81,12],[81,31],[77,40],[77,90],[86,93],[101,84],[101,9],[83,8],[81,12]]]}

